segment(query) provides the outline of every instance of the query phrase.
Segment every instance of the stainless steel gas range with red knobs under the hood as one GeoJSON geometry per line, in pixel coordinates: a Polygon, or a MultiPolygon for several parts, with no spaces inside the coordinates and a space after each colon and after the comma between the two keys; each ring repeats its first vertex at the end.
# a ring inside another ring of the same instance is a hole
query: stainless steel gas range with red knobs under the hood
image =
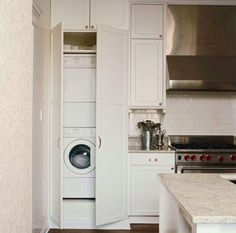
{"type": "MultiPolygon", "coordinates": [[[[235,168],[236,145],[233,136],[170,136],[169,145],[176,151],[176,170],[196,168],[235,168]]],[[[215,169],[213,169],[215,170],[215,169]]],[[[208,170],[210,171],[210,170],[208,170]]]]}

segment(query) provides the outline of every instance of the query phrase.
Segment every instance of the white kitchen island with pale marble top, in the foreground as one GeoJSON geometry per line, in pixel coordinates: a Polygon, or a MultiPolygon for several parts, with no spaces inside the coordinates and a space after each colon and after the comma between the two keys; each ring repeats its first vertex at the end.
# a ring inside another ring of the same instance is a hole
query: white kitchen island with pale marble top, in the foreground
{"type": "Polygon", "coordinates": [[[236,174],[160,174],[160,233],[236,233],[236,174]]]}

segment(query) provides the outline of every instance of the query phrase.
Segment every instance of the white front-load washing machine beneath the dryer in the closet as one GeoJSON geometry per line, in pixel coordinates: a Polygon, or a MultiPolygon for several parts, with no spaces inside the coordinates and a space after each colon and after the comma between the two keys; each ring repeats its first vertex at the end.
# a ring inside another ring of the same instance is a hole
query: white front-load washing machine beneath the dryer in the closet
{"type": "Polygon", "coordinates": [[[64,128],[63,198],[95,198],[95,128],[64,128]]]}

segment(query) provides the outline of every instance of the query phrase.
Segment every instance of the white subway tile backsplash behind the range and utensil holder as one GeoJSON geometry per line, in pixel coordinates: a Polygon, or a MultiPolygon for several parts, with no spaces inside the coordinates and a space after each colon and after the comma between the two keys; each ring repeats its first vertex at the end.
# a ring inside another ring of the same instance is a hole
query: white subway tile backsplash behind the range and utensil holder
{"type": "Polygon", "coordinates": [[[140,135],[137,122],[153,120],[162,123],[168,135],[236,135],[235,93],[171,93],[166,113],[130,113],[130,136],[140,135]]]}

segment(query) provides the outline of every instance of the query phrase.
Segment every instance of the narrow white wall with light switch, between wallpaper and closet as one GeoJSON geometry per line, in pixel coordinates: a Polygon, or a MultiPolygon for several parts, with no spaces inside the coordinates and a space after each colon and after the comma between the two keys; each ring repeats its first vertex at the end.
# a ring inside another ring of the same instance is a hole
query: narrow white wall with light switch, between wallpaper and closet
{"type": "Polygon", "coordinates": [[[50,0],[35,3],[42,10],[34,17],[32,232],[37,233],[49,225],[50,0]]]}

